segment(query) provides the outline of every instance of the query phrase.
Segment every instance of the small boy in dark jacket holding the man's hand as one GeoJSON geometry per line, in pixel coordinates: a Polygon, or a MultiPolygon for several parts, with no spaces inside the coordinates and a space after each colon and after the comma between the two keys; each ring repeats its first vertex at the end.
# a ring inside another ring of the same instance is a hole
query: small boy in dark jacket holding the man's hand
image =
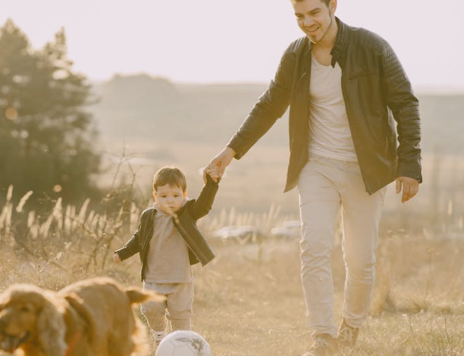
{"type": "MultiPolygon", "coordinates": [[[[217,178],[216,174],[210,173],[217,178]]],[[[191,329],[191,264],[204,266],[215,257],[196,220],[208,214],[217,189],[208,175],[198,199],[187,199],[184,173],[174,166],[159,169],[153,178],[154,205],[143,211],[137,231],[113,255],[119,263],[139,252],[143,288],[166,296],[166,301],[150,301],[140,307],[155,344],[166,335],[166,318],[173,331],[191,329]]]]}

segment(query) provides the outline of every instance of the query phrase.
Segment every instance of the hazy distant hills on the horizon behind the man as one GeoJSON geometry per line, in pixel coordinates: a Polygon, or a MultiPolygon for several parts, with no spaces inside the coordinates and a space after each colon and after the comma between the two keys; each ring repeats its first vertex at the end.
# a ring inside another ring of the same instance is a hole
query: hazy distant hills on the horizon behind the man
{"type": "MultiPolygon", "coordinates": [[[[103,141],[141,140],[226,143],[266,84],[185,85],[147,75],[115,76],[94,85],[91,106],[103,141]]],[[[419,95],[424,152],[464,153],[464,95],[419,95]]],[[[287,114],[286,114],[287,115],[287,114]]],[[[287,120],[263,144],[288,145],[287,120]]]]}

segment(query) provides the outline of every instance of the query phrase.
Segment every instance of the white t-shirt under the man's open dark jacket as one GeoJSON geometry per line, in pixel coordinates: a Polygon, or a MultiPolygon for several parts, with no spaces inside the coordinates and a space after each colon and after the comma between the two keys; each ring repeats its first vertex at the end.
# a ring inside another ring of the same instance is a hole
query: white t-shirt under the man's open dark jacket
{"type": "Polygon", "coordinates": [[[342,94],[342,69],[324,66],[311,56],[310,144],[311,155],[356,162],[353,138],[342,94]]]}

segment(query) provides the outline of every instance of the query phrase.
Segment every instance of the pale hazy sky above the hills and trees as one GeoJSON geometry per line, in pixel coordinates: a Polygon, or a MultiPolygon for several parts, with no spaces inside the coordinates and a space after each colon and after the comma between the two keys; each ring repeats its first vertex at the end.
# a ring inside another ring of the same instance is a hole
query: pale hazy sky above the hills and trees
{"type": "MultiPolygon", "coordinates": [[[[336,15],[386,38],[414,87],[463,90],[463,13],[463,0],[339,0],[336,15]]],[[[267,83],[303,36],[289,0],[1,0],[8,17],[34,48],[64,27],[74,69],[92,80],[267,83]]]]}

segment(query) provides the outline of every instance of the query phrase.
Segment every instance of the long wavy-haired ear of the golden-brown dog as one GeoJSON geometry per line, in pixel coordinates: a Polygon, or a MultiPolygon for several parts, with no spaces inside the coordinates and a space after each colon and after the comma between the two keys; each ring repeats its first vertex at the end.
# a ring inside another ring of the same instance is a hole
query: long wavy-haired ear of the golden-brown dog
{"type": "Polygon", "coordinates": [[[47,356],[65,356],[67,345],[64,341],[64,307],[51,292],[49,295],[37,295],[37,298],[41,299],[37,311],[37,339],[43,353],[47,356]]]}

